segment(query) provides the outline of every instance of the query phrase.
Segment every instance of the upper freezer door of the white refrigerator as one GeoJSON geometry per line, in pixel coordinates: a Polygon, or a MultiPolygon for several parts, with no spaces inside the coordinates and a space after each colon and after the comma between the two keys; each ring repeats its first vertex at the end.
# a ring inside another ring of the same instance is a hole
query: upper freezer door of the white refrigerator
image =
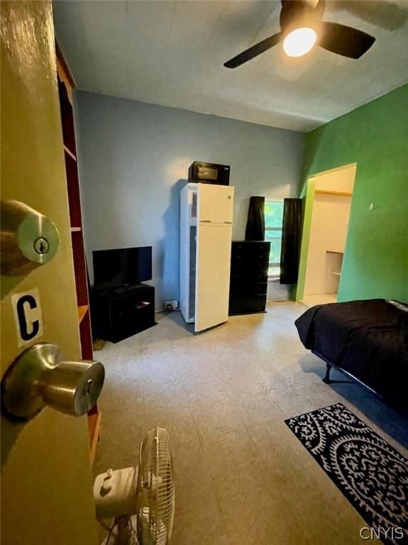
{"type": "Polygon", "coordinates": [[[199,184],[197,192],[197,221],[232,225],[233,187],[199,184]]]}

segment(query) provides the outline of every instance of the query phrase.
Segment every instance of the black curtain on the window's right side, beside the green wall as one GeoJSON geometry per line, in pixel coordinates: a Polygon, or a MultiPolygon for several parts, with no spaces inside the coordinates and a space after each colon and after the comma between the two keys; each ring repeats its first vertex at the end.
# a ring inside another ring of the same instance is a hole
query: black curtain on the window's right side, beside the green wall
{"type": "Polygon", "coordinates": [[[283,204],[280,283],[296,284],[302,242],[302,199],[285,199],[283,204]]]}

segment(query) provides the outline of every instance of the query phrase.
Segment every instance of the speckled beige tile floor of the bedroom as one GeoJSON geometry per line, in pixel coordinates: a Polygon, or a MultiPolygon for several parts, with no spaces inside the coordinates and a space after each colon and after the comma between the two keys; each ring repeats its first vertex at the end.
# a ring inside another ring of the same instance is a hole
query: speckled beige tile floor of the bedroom
{"type": "Polygon", "coordinates": [[[176,516],[172,545],[353,545],[365,526],[285,425],[343,402],[407,456],[407,421],[359,385],[325,385],[294,319],[268,304],[194,334],[180,312],[97,356],[106,367],[95,473],[138,463],[155,424],[170,433],[176,516]]]}

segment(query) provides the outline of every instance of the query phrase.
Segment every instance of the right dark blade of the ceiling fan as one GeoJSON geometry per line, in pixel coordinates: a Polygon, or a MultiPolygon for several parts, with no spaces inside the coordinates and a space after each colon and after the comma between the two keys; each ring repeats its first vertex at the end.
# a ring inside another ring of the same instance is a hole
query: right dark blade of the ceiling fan
{"type": "Polygon", "coordinates": [[[321,23],[321,38],[319,45],[331,53],[359,59],[375,42],[375,38],[357,28],[330,23],[321,23]]]}

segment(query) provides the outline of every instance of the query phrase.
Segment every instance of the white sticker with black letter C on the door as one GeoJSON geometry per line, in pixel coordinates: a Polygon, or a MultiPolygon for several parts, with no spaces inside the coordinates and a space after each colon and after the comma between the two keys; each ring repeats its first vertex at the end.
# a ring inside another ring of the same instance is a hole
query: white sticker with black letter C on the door
{"type": "Polygon", "coordinates": [[[31,344],[43,336],[43,316],[38,289],[13,294],[11,304],[16,321],[18,347],[31,344]]]}

